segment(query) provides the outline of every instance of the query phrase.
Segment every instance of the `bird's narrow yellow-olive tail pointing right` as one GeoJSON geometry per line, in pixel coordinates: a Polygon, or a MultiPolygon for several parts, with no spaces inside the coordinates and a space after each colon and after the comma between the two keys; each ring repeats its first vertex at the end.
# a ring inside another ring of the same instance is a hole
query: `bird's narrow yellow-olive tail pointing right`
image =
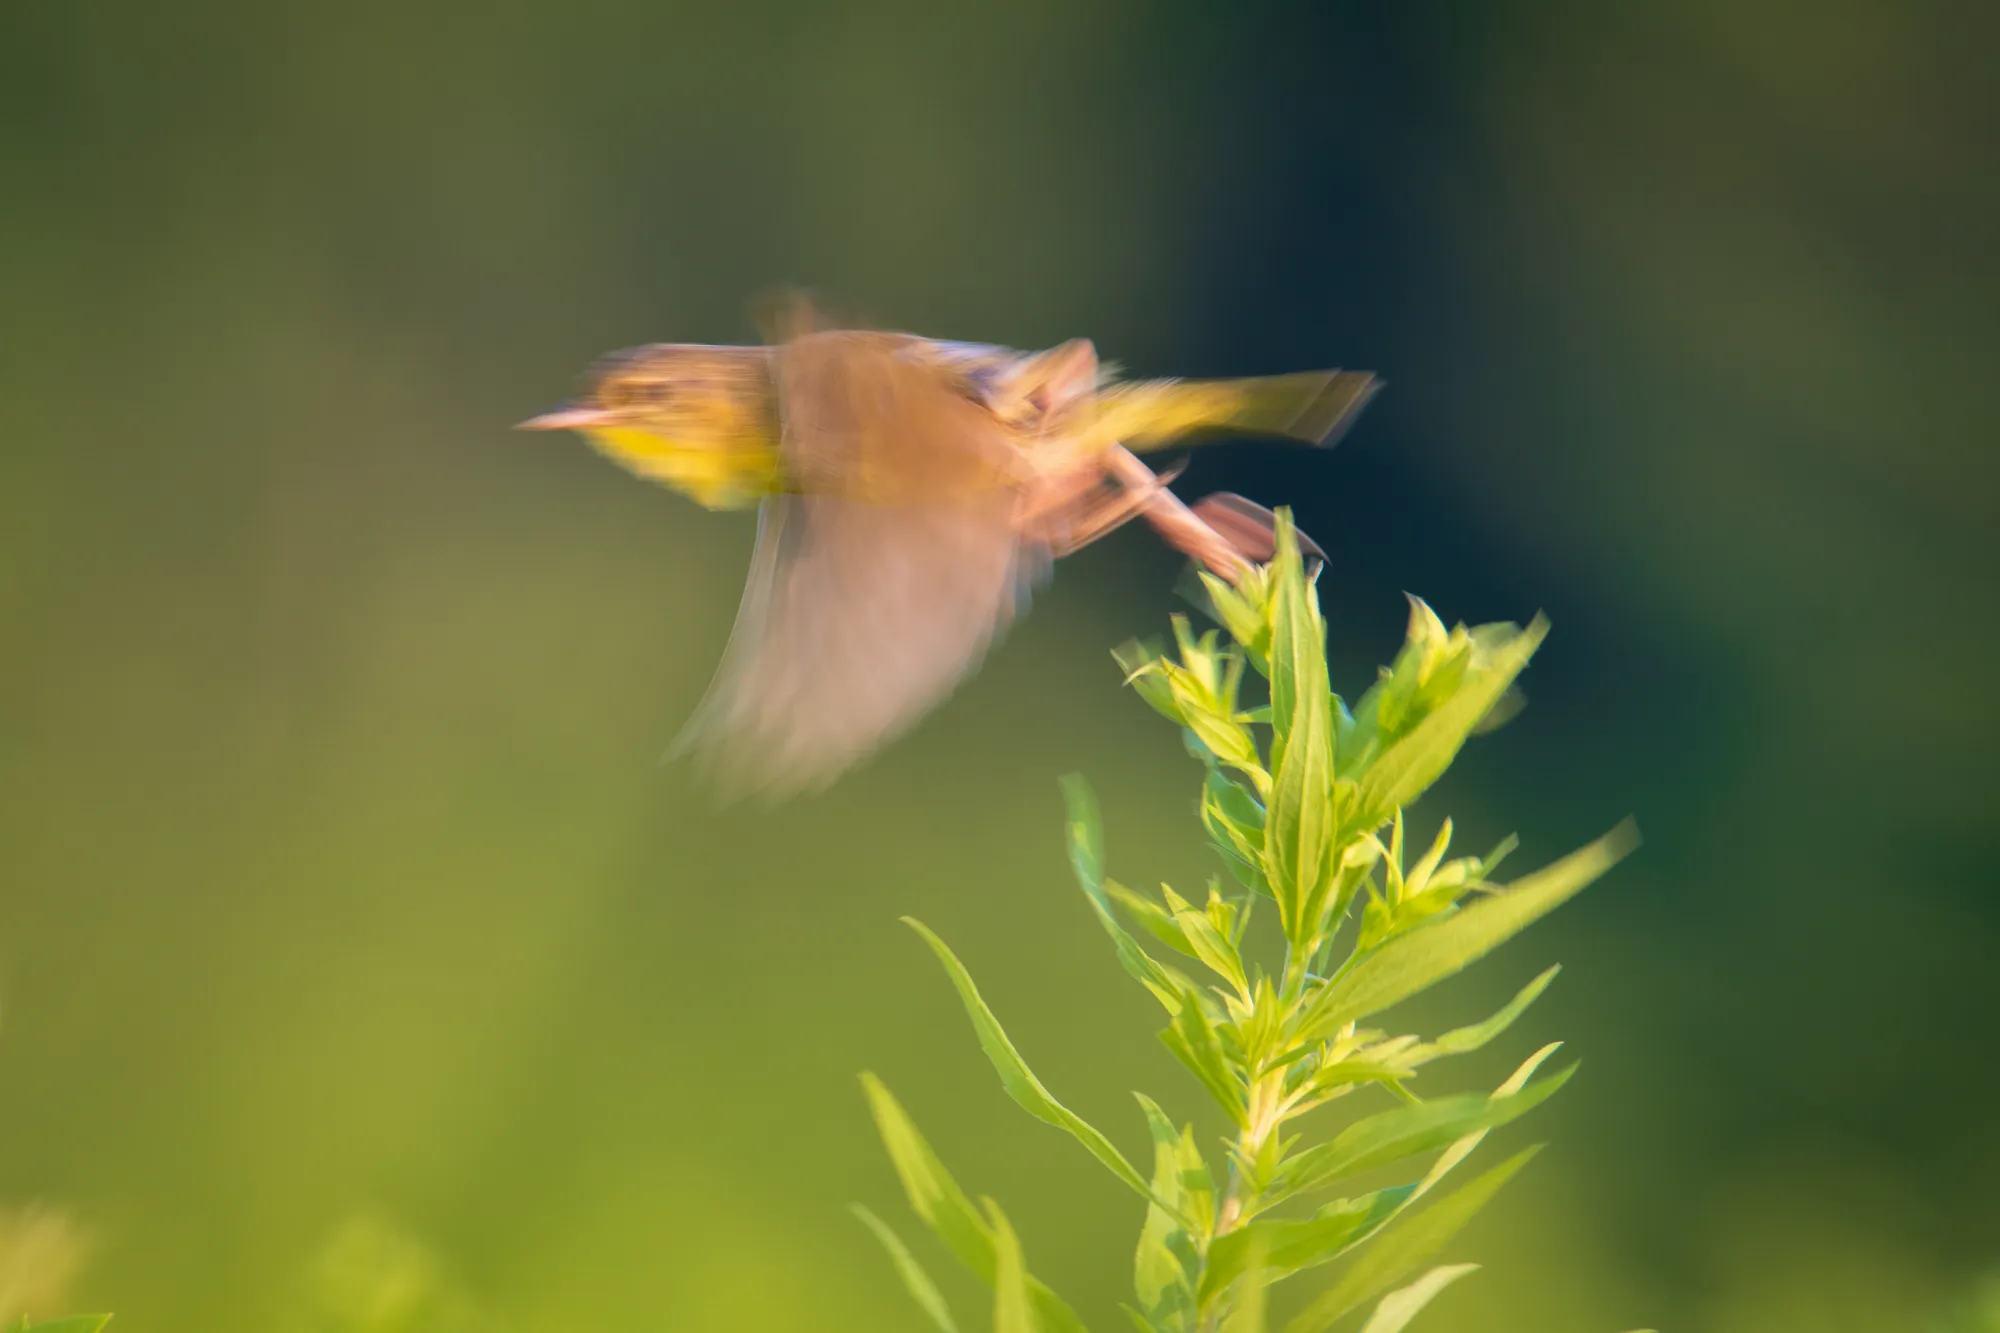
{"type": "Polygon", "coordinates": [[[1134,380],[1098,392],[1100,426],[1148,450],[1204,432],[1270,434],[1332,446],[1382,388],[1366,370],[1308,370],[1248,380],[1134,380]]]}

